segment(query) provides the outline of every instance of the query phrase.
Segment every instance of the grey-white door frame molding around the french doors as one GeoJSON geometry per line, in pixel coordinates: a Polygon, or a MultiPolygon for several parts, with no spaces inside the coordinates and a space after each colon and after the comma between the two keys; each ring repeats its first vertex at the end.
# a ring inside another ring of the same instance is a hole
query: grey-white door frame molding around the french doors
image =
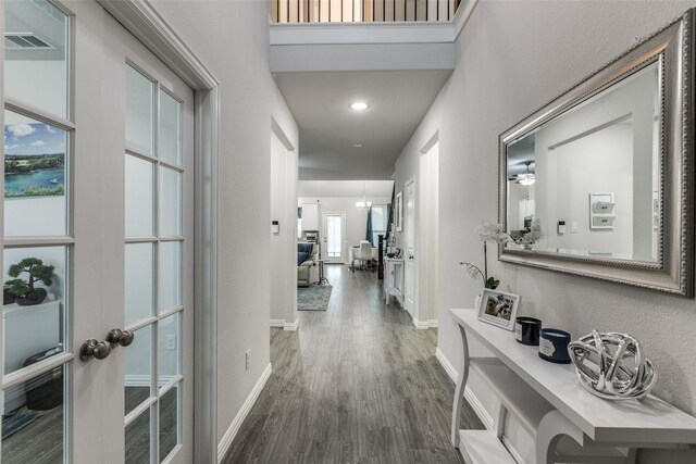
{"type": "Polygon", "coordinates": [[[147,0],[97,0],[195,92],[194,455],[217,462],[217,152],[220,81],[147,0]]]}

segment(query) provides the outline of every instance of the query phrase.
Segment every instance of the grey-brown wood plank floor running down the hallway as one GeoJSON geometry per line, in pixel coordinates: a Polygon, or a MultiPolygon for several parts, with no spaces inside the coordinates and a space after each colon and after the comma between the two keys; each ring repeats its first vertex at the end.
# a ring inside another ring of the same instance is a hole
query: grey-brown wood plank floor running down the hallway
{"type": "MultiPolygon", "coordinates": [[[[437,331],[384,304],[375,272],[327,265],[327,311],[271,329],[273,374],[224,463],[461,463],[437,331]]],[[[462,428],[483,428],[469,404],[462,428]]]]}

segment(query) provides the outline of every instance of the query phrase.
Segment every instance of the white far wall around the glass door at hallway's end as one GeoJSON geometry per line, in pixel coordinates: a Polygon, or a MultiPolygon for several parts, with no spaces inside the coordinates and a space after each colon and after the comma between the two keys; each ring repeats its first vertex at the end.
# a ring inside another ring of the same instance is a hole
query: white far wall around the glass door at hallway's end
{"type": "MultiPolygon", "coordinates": [[[[348,262],[348,252],[346,247],[359,244],[360,240],[365,239],[368,227],[368,211],[358,210],[356,202],[361,201],[362,197],[300,197],[299,203],[316,203],[319,200],[319,229],[322,240],[322,254],[325,253],[324,243],[324,213],[346,213],[346,240],[344,243],[344,255],[348,262]]],[[[373,205],[388,204],[391,199],[387,197],[369,197],[373,205]]],[[[302,224],[303,225],[303,224],[302,224]]]]}

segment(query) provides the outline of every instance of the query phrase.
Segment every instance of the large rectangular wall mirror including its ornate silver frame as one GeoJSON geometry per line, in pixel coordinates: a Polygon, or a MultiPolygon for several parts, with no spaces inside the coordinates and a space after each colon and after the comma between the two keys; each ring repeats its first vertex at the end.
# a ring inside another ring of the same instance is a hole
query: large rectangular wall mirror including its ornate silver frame
{"type": "Polygon", "coordinates": [[[501,261],[693,297],[693,14],[500,135],[501,261]]]}

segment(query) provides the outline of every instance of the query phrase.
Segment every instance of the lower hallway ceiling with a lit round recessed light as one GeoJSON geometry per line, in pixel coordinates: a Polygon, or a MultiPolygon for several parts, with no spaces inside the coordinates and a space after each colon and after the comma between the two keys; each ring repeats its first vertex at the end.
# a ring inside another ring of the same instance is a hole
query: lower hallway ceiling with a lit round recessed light
{"type": "Polygon", "coordinates": [[[394,163],[450,74],[451,70],[274,74],[300,131],[300,180],[391,178],[394,163]],[[368,110],[351,110],[357,100],[366,102],[368,110]]]}

